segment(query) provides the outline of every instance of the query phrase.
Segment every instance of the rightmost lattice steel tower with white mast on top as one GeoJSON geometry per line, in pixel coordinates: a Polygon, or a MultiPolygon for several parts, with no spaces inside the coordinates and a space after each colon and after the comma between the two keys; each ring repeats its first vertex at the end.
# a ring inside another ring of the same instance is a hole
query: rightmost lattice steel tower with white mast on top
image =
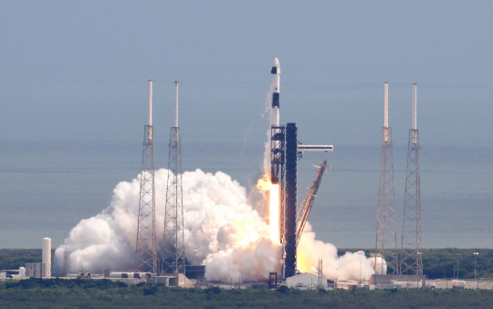
{"type": "Polygon", "coordinates": [[[409,130],[404,193],[402,274],[423,275],[421,246],[421,204],[419,192],[419,138],[416,125],[416,84],[413,87],[413,128],[409,130]]]}

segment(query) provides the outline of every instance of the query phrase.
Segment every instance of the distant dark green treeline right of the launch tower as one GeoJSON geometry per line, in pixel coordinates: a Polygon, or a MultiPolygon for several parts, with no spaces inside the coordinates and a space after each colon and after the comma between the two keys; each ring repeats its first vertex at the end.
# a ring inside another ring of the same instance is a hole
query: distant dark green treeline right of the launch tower
{"type": "MultiPolygon", "coordinates": [[[[341,256],[346,251],[356,250],[359,249],[340,249],[338,254],[341,256]]],[[[374,252],[374,249],[361,250],[367,257],[374,252]]],[[[400,258],[400,251],[398,257],[400,258]]],[[[457,260],[460,279],[474,279],[475,263],[477,278],[493,278],[492,249],[423,249],[423,273],[428,279],[456,278],[457,260]],[[474,252],[478,254],[475,255],[474,252]]]]}

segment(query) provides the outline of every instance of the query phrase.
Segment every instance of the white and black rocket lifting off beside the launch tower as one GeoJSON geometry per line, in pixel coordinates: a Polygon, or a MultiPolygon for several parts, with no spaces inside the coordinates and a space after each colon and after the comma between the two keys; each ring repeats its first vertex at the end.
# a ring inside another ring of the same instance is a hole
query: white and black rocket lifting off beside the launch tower
{"type": "Polygon", "coordinates": [[[280,77],[280,67],[279,60],[274,59],[272,64],[272,69],[270,70],[272,74],[272,108],[270,110],[270,181],[272,184],[278,184],[279,181],[279,149],[278,141],[280,137],[278,136],[279,129],[279,77],[280,77]]]}

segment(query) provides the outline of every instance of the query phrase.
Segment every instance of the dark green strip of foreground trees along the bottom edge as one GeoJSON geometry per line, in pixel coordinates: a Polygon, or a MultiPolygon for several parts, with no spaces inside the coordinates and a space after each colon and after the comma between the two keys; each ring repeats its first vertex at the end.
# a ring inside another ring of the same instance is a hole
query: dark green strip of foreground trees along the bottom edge
{"type": "Polygon", "coordinates": [[[209,287],[183,289],[101,280],[26,279],[0,282],[0,307],[487,307],[486,290],[325,291],[240,290],[209,287]]]}

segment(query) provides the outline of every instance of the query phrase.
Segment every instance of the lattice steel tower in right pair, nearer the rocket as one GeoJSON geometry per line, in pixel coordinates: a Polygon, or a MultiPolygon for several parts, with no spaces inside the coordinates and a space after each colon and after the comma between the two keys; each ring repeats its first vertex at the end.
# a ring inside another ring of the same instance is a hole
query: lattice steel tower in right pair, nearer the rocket
{"type": "MultiPolygon", "coordinates": [[[[397,234],[395,221],[395,198],[393,195],[393,143],[392,128],[389,127],[389,84],[384,84],[384,112],[382,128],[382,148],[380,152],[380,179],[378,188],[377,226],[375,242],[375,272],[382,273],[383,269],[377,269],[377,257],[385,259],[387,272],[398,273],[397,264],[397,234]]],[[[382,265],[383,266],[383,265],[382,265]]]]}

